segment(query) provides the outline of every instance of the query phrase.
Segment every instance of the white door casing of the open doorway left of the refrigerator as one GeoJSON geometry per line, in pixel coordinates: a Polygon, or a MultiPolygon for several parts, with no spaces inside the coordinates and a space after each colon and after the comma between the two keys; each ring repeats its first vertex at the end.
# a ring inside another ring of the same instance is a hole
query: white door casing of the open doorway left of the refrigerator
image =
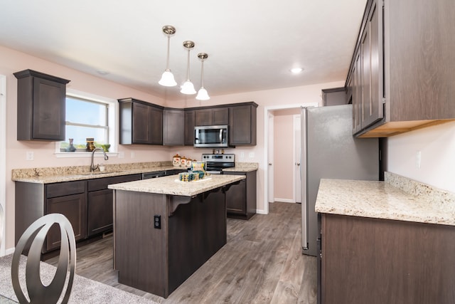
{"type": "Polygon", "coordinates": [[[269,201],[268,201],[268,193],[269,193],[269,169],[268,169],[268,159],[269,159],[269,111],[273,110],[282,110],[282,109],[295,109],[301,107],[319,107],[319,103],[301,103],[298,105],[271,105],[268,107],[264,107],[264,162],[262,166],[264,167],[264,214],[269,214],[269,201]]]}

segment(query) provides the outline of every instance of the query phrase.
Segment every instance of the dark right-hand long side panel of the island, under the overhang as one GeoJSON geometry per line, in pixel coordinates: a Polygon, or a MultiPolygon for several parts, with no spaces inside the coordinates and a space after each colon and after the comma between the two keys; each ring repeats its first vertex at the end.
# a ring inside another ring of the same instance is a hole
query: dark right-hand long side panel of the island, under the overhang
{"type": "Polygon", "coordinates": [[[179,205],[168,224],[169,293],[172,293],[226,243],[224,187],[179,205]]]}

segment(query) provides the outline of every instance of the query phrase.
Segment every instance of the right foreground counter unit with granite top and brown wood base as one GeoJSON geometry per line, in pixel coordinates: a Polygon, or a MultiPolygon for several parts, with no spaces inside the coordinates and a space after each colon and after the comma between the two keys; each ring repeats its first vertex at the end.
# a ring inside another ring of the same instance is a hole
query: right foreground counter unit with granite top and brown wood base
{"type": "Polygon", "coordinates": [[[454,303],[455,194],[385,172],[321,179],[321,303],[454,303]]]}

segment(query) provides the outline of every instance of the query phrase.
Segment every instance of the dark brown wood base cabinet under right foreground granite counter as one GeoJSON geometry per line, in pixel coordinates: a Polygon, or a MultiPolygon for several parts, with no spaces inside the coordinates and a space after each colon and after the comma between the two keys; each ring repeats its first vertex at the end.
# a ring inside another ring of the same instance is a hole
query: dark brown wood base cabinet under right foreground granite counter
{"type": "Polygon", "coordinates": [[[322,214],[321,303],[454,303],[455,226],[322,214]]]}

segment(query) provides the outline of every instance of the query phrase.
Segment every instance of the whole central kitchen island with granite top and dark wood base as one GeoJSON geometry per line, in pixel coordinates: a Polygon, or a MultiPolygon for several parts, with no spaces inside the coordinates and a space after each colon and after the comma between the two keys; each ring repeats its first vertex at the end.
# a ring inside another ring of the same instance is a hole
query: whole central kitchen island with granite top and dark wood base
{"type": "Polygon", "coordinates": [[[114,189],[114,268],[119,283],[164,298],[226,243],[225,193],[243,175],[178,175],[114,189]]]}

